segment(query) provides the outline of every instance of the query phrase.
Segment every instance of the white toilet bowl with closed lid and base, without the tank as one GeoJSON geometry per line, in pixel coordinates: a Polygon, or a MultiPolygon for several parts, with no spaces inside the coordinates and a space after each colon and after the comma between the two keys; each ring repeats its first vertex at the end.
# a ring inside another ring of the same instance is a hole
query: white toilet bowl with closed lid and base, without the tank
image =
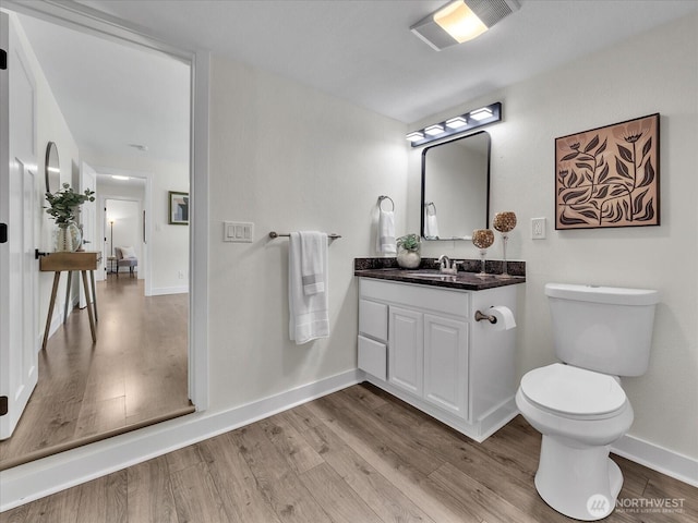
{"type": "Polygon", "coordinates": [[[633,408],[611,376],[553,364],[529,372],[516,394],[543,436],[535,488],[557,512],[582,521],[609,515],[623,485],[611,443],[633,424],[633,408]]]}

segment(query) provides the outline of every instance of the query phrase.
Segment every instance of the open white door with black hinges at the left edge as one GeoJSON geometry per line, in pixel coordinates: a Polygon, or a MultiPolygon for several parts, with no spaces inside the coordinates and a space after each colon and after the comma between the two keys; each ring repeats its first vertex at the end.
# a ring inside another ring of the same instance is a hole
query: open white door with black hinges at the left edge
{"type": "Polygon", "coordinates": [[[0,439],[12,435],[38,379],[34,259],[36,89],[9,16],[0,13],[0,439]],[[11,134],[10,134],[11,131],[11,134]],[[33,166],[33,167],[29,167],[33,166]]]}

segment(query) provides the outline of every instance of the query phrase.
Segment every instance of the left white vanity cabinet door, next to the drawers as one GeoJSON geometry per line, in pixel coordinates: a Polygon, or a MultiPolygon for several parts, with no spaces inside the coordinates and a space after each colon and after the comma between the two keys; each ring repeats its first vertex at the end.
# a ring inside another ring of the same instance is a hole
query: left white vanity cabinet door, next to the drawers
{"type": "Polygon", "coordinates": [[[388,381],[408,392],[422,396],[423,315],[393,306],[389,311],[388,381]]]}

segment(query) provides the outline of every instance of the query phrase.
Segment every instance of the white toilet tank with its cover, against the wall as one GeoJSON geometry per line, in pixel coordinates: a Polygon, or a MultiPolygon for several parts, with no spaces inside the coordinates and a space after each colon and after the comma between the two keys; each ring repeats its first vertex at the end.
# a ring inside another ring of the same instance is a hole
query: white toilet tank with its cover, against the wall
{"type": "Polygon", "coordinates": [[[615,376],[645,374],[657,291],[547,283],[545,294],[557,357],[615,376]]]}

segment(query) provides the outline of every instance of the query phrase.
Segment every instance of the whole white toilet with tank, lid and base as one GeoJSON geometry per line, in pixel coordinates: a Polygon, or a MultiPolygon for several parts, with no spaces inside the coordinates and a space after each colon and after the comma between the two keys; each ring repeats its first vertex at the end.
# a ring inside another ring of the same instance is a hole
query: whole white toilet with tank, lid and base
{"type": "Polygon", "coordinates": [[[543,436],[535,488],[569,518],[607,516],[623,485],[611,443],[633,425],[619,376],[649,364],[659,293],[547,283],[553,343],[562,363],[521,378],[516,405],[543,436]]]}

